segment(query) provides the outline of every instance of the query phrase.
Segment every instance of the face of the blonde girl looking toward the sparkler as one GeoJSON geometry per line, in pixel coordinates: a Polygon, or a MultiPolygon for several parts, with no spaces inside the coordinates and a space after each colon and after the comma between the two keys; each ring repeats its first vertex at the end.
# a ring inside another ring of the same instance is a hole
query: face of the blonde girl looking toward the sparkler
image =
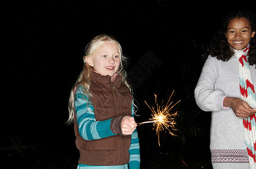
{"type": "Polygon", "coordinates": [[[115,43],[106,41],[86,61],[96,72],[112,77],[120,65],[119,48],[115,43]]]}

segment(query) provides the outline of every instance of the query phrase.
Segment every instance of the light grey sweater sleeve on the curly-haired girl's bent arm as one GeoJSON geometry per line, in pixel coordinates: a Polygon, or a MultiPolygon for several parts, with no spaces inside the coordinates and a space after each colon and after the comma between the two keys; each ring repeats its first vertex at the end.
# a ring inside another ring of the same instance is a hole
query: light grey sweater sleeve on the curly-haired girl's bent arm
{"type": "Polygon", "coordinates": [[[222,91],[214,89],[218,73],[216,61],[215,57],[208,56],[195,88],[197,105],[200,109],[209,112],[228,109],[223,106],[223,100],[226,96],[222,91]]]}

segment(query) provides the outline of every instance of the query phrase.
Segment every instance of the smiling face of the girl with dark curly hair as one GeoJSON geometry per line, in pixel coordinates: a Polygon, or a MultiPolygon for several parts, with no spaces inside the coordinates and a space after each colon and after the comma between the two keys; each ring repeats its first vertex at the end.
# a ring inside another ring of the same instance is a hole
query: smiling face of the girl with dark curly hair
{"type": "Polygon", "coordinates": [[[235,50],[244,49],[251,38],[254,37],[255,32],[252,32],[249,20],[245,17],[234,18],[228,23],[227,37],[228,44],[235,50]]]}

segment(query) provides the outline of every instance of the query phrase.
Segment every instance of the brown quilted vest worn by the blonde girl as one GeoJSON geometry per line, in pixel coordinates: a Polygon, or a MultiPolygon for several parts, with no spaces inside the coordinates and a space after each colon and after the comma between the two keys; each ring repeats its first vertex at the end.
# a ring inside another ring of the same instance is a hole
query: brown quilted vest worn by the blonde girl
{"type": "MultiPolygon", "coordinates": [[[[122,77],[116,76],[112,83],[109,75],[91,73],[92,103],[96,121],[131,115],[132,96],[129,88],[122,83],[122,77]]],[[[131,136],[119,134],[104,139],[86,141],[79,135],[75,117],[76,147],[79,149],[78,163],[93,166],[118,166],[129,162],[131,136]]]]}

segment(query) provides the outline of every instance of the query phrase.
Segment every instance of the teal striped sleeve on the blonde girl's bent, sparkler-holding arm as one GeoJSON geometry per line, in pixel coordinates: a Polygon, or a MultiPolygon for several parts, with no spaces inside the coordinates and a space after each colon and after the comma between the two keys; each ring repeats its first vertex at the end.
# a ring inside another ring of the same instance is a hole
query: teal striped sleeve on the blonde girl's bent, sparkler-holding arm
{"type": "Polygon", "coordinates": [[[75,112],[80,136],[84,140],[97,140],[116,135],[110,130],[112,118],[96,121],[94,108],[88,103],[88,97],[82,90],[83,88],[79,87],[75,95],[75,112]]]}

